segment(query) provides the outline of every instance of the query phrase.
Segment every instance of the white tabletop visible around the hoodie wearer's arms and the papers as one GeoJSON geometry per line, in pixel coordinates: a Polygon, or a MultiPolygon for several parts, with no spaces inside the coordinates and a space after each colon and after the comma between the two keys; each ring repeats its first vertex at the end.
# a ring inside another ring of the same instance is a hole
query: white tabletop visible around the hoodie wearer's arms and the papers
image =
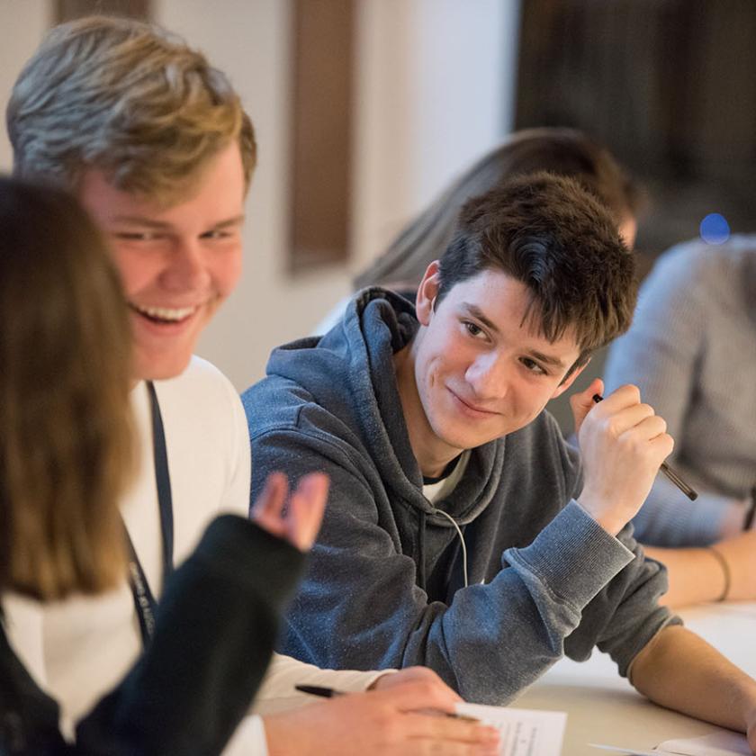
{"type": "MultiPolygon", "coordinates": [[[[756,603],[707,604],[679,614],[689,629],[756,678],[756,603]]],[[[588,662],[558,662],[512,706],[566,711],[563,756],[608,754],[588,743],[650,749],[671,738],[717,729],[652,704],[598,651],[588,662]]]]}

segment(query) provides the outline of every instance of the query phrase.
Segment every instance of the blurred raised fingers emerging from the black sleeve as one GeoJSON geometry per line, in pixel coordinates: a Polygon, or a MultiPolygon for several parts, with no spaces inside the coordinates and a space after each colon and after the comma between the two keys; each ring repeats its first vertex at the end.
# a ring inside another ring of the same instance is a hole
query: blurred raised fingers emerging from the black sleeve
{"type": "Polygon", "coordinates": [[[300,551],[308,551],[318,536],[329,495],[329,479],[323,473],[310,473],[289,496],[284,473],[271,473],[255,502],[250,518],[259,527],[283,538],[300,551]]]}

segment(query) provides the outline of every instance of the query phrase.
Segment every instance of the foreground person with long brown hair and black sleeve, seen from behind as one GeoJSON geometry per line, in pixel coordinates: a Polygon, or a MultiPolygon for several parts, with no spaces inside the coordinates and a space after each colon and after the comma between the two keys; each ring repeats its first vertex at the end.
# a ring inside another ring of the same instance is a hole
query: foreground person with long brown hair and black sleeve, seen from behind
{"type": "MultiPolygon", "coordinates": [[[[3,177],[0,362],[0,591],[18,640],[34,633],[23,597],[102,596],[124,580],[118,501],[135,438],[130,324],[102,236],[69,194],[3,177]]],[[[267,503],[275,518],[280,497],[267,503]]],[[[305,540],[320,522],[311,512],[305,540]]],[[[168,580],[144,658],[76,724],[75,743],[0,626],[0,752],[219,752],[262,680],[301,564],[246,518],[215,520],[168,580]]]]}

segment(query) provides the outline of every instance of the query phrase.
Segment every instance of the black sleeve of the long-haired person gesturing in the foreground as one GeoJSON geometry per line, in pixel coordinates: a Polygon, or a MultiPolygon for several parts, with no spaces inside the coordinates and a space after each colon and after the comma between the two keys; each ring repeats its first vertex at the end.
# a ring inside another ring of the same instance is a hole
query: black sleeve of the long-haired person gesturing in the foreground
{"type": "Polygon", "coordinates": [[[148,650],[76,728],[87,754],[216,754],[247,713],[304,557],[224,515],[166,584],[148,650]]]}

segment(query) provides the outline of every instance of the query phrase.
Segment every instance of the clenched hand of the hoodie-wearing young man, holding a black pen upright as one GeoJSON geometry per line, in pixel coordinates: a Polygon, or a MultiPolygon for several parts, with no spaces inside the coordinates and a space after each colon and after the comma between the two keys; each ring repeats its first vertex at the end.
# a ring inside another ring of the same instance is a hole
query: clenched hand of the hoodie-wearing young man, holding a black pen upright
{"type": "Polygon", "coordinates": [[[585,475],[578,501],[616,535],[643,505],[674,442],[635,386],[621,386],[596,404],[593,395],[602,390],[597,379],[571,400],[585,475]]]}

